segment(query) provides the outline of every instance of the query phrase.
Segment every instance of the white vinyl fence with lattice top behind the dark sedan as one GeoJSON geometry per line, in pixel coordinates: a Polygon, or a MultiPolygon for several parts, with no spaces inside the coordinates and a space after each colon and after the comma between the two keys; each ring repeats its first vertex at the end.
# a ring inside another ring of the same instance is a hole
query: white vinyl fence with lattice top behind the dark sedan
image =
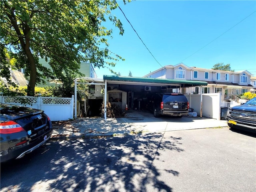
{"type": "Polygon", "coordinates": [[[0,96],[0,102],[44,110],[44,112],[50,117],[52,121],[68,120],[74,118],[74,96],[72,96],[72,98],[0,96]]]}

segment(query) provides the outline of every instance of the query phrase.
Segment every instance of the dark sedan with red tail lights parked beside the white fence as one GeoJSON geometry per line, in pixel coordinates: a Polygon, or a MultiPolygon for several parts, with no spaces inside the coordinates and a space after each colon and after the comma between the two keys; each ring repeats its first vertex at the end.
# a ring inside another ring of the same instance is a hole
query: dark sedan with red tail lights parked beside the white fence
{"type": "Polygon", "coordinates": [[[52,135],[52,122],[42,110],[0,105],[0,162],[22,158],[52,135]]]}

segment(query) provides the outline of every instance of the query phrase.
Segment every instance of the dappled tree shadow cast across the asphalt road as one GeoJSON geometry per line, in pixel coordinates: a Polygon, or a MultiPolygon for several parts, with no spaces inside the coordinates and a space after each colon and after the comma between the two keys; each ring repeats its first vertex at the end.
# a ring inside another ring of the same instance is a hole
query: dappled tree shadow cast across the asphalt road
{"type": "MultiPolygon", "coordinates": [[[[160,158],[160,150],[184,150],[180,148],[182,138],[163,138],[163,134],[155,133],[51,141],[45,153],[38,149],[20,160],[1,164],[1,191],[171,192],[170,184],[158,177],[160,170],[154,160],[160,158]]],[[[171,163],[166,167],[166,174],[179,175],[171,163]]]]}

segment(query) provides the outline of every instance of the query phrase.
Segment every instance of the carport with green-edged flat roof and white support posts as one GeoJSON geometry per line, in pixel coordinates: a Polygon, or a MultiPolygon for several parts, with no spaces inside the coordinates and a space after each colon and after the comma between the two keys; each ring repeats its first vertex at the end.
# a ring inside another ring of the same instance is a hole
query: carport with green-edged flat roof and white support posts
{"type": "MultiPolygon", "coordinates": [[[[207,82],[194,80],[174,80],[159,78],[138,78],[138,77],[120,77],[104,75],[104,118],[106,120],[107,94],[112,90],[127,92],[127,104],[134,106],[134,101],[138,100],[137,106],[140,107],[140,101],[148,92],[182,92],[182,88],[193,86],[206,86],[207,82]]],[[[113,91],[112,91],[113,92],[113,91]]],[[[202,117],[202,92],[201,92],[200,117],[202,117]]]]}

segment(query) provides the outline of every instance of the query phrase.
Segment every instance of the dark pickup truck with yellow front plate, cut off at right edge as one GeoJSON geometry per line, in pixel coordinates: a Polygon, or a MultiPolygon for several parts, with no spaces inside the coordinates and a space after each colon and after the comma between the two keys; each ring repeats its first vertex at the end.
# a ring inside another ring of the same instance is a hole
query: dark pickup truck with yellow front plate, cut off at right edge
{"type": "Polygon", "coordinates": [[[229,108],[226,121],[230,128],[256,133],[256,97],[229,108]]]}

